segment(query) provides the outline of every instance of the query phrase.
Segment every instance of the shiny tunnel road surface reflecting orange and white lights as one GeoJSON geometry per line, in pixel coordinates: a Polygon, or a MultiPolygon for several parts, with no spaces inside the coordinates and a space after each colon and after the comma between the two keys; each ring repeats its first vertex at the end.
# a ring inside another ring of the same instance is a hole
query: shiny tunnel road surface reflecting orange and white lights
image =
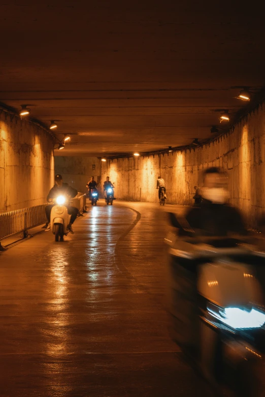
{"type": "Polygon", "coordinates": [[[155,204],[103,202],[55,243],[0,255],[1,396],[210,396],[170,340],[167,223],[155,204]]]}

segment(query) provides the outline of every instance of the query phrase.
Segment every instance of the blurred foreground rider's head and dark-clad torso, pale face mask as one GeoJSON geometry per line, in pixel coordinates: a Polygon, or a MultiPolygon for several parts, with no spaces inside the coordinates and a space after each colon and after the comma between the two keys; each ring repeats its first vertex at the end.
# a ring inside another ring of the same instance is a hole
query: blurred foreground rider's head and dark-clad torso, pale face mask
{"type": "Polygon", "coordinates": [[[227,204],[227,182],[227,175],[220,168],[206,169],[204,187],[200,189],[201,203],[190,208],[185,216],[191,230],[200,229],[213,236],[247,234],[240,212],[227,204]]]}

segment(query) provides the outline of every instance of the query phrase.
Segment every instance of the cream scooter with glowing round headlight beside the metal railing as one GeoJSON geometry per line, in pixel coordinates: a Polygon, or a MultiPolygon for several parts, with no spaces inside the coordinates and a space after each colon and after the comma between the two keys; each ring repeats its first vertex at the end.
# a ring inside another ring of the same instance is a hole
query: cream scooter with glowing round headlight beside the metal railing
{"type": "Polygon", "coordinates": [[[63,236],[67,236],[69,231],[67,226],[70,221],[67,206],[70,201],[65,196],[58,196],[54,199],[54,206],[51,209],[51,230],[55,235],[55,241],[63,241],[63,236]]]}

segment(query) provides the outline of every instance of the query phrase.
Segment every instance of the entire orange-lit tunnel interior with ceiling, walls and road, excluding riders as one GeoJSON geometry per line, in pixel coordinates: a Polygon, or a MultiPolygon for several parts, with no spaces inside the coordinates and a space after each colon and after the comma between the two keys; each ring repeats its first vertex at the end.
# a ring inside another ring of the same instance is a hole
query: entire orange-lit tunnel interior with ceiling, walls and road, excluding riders
{"type": "Polygon", "coordinates": [[[263,13],[208,0],[0,5],[1,396],[215,395],[170,337],[167,212],[183,216],[215,167],[260,234],[263,13]],[[47,219],[56,181],[78,215],[63,242],[47,219]]]}

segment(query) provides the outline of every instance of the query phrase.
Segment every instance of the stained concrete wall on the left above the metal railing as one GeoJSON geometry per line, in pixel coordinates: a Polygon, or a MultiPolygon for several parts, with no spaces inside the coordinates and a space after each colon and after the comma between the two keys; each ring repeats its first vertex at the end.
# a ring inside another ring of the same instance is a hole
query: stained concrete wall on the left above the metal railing
{"type": "Polygon", "coordinates": [[[53,169],[51,135],[0,111],[0,212],[45,203],[53,169]]]}

